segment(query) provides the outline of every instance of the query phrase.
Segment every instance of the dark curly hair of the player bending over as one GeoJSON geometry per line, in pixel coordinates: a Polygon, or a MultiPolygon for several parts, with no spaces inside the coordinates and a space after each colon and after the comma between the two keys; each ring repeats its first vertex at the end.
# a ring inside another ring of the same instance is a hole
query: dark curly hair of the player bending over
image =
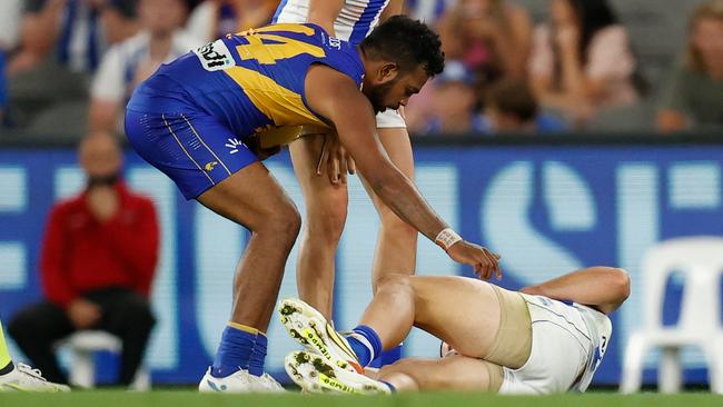
{"type": "Polygon", "coordinates": [[[404,16],[394,16],[379,24],[361,41],[365,54],[395,62],[409,72],[423,66],[433,77],[444,70],[439,36],[427,24],[404,16]]]}

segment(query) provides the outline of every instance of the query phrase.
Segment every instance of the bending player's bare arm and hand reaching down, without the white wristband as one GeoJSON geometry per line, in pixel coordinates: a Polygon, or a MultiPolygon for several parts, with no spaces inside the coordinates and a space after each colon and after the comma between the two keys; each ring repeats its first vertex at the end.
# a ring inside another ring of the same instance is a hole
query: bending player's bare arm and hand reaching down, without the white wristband
{"type": "MultiPolygon", "coordinates": [[[[341,145],[355,158],[358,170],[374,191],[399,218],[430,240],[437,240],[439,234],[448,229],[447,224],[389,161],[375,136],[372,105],[354,81],[331,68],[314,66],[307,73],[306,87],[309,106],[334,123],[341,145]]],[[[460,240],[445,249],[454,260],[473,266],[484,278],[499,274],[497,257],[485,248],[460,240]]]]}

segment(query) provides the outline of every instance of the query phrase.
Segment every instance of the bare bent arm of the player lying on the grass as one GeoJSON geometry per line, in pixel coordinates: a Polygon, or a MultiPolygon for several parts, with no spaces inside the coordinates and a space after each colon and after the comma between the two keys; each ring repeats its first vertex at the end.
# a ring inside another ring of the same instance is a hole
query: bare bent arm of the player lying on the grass
{"type": "Polygon", "coordinates": [[[630,277],[620,268],[590,267],[519,291],[566,299],[611,314],[630,296],[630,277]]]}

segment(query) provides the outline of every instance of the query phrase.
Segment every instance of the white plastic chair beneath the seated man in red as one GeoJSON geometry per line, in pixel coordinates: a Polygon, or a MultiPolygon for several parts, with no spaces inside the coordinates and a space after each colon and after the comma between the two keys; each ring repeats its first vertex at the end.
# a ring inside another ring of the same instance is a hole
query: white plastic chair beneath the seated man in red
{"type": "MultiPolygon", "coordinates": [[[[70,384],[83,388],[92,388],[96,385],[93,359],[96,351],[106,350],[120,354],[122,350],[121,340],[102,330],[78,331],[63,340],[61,346],[67,347],[71,353],[70,384]]],[[[130,388],[137,391],[150,389],[150,375],[142,366],[138,368],[130,388]]]]}

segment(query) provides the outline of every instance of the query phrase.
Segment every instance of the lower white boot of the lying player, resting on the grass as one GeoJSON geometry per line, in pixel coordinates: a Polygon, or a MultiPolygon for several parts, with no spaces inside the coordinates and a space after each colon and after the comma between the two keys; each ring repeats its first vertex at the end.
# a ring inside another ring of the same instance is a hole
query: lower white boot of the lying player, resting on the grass
{"type": "Polygon", "coordinates": [[[307,393],[388,395],[389,387],[355,371],[333,365],[324,356],[306,351],[290,353],[284,367],[291,380],[307,393]]]}

